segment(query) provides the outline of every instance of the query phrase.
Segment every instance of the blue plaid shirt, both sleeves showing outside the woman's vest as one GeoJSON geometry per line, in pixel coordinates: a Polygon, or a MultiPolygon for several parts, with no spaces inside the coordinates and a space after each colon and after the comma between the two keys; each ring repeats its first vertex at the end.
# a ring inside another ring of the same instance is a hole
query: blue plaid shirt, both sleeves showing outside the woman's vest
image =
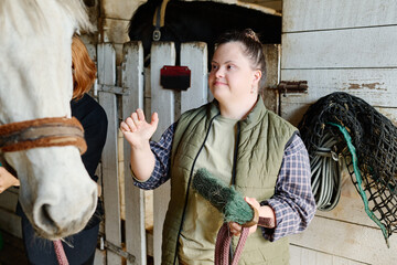
{"type": "MultiPolygon", "coordinates": [[[[171,125],[161,136],[159,142],[151,141],[151,150],[155,157],[151,177],[135,186],[152,190],[169,180],[170,156],[176,123],[171,125]]],[[[302,139],[296,135],[285,150],[280,173],[272,198],[260,202],[269,205],[276,214],[276,229],[262,229],[264,237],[276,241],[289,234],[303,231],[313,219],[315,201],[311,190],[311,171],[308,151],[302,139]]]]}

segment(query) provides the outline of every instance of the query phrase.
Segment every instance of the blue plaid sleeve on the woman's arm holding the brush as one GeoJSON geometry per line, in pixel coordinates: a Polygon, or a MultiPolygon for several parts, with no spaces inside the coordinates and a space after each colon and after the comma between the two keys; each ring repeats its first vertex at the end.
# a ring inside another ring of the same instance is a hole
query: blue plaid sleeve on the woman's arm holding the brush
{"type": "Polygon", "coordinates": [[[311,189],[309,155],[302,139],[296,135],[285,149],[281,169],[272,198],[260,203],[276,214],[276,229],[264,229],[269,241],[303,231],[313,219],[315,201],[311,189]]]}

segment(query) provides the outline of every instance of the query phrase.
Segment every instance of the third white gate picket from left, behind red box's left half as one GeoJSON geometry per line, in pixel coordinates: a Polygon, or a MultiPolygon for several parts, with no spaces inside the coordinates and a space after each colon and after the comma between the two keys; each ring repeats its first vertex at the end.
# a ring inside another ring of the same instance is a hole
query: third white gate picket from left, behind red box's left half
{"type": "MultiPolygon", "coordinates": [[[[174,92],[160,86],[160,70],[164,65],[175,64],[175,49],[173,43],[158,42],[151,47],[151,110],[159,114],[159,126],[152,139],[159,140],[163,131],[175,120],[174,92]]],[[[170,201],[170,181],[153,192],[153,257],[154,264],[161,264],[162,227],[170,201]]]]}

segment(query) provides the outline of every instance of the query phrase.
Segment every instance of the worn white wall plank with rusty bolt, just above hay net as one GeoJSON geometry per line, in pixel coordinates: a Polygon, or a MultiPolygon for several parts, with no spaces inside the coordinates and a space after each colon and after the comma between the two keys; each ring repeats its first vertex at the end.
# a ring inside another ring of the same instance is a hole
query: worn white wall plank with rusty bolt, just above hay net
{"type": "Polygon", "coordinates": [[[282,70],[281,80],[303,80],[309,86],[307,94],[282,97],[286,105],[312,104],[333,92],[345,92],[373,106],[396,107],[397,68],[282,70]]]}

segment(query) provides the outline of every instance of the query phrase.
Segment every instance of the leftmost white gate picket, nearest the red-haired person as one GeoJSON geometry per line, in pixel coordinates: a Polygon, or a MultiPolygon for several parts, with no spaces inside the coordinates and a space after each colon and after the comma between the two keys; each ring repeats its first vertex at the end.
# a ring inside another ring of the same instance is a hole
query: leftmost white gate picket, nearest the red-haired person
{"type": "MultiPolygon", "coordinates": [[[[104,85],[116,84],[116,54],[109,43],[98,44],[98,83],[104,85]]],[[[99,104],[104,107],[108,118],[108,131],[101,156],[103,193],[105,206],[106,240],[121,247],[120,230],[120,200],[118,179],[118,116],[116,95],[107,92],[98,93],[99,104]]],[[[121,264],[121,257],[107,252],[108,264],[121,264]]]]}

